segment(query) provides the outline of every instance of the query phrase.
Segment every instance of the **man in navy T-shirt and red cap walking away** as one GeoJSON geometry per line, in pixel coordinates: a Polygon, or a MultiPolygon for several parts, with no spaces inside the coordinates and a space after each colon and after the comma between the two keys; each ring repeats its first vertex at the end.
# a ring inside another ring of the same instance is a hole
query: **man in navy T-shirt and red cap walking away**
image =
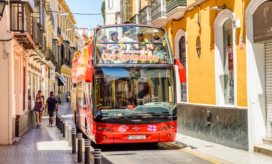
{"type": "Polygon", "coordinates": [[[54,119],[56,111],[58,111],[58,100],[54,98],[54,94],[50,94],[50,98],[46,100],[45,113],[48,112],[49,115],[49,126],[54,126],[54,119]]]}

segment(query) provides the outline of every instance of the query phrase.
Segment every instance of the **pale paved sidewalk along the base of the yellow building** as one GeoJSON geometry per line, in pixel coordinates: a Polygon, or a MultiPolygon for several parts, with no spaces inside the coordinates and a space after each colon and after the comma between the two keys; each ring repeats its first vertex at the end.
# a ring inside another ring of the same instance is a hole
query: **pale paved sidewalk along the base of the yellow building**
{"type": "Polygon", "coordinates": [[[272,157],[243,151],[177,133],[174,144],[181,150],[192,152],[220,163],[272,164],[272,157]],[[176,142],[176,143],[175,143],[176,142]]]}

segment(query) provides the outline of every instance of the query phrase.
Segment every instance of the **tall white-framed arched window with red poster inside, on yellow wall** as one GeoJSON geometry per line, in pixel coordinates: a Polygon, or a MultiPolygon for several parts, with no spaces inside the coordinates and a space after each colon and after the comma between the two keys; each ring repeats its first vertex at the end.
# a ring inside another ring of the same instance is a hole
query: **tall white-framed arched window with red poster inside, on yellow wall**
{"type": "Polygon", "coordinates": [[[234,13],[225,9],[219,12],[214,21],[216,105],[237,106],[234,19],[234,13]]]}

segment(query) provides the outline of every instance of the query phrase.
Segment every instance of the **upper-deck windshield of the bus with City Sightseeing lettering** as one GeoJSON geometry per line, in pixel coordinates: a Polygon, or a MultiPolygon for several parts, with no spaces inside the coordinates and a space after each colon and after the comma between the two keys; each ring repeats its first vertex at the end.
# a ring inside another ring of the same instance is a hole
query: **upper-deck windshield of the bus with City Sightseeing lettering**
{"type": "Polygon", "coordinates": [[[94,64],[173,64],[169,39],[160,27],[137,24],[95,30],[94,64]]]}

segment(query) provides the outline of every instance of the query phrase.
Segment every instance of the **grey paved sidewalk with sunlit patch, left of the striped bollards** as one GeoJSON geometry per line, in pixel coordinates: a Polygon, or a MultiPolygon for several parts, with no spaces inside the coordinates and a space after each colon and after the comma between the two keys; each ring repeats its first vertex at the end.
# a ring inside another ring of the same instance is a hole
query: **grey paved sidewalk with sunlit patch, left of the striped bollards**
{"type": "MultiPolygon", "coordinates": [[[[58,113],[64,113],[68,107],[68,103],[59,105],[58,113]]],[[[48,119],[48,115],[43,116],[42,125],[31,127],[14,145],[0,146],[0,163],[76,163],[69,152],[72,147],[68,147],[68,142],[65,142],[58,128],[48,126],[48,119]]]]}

